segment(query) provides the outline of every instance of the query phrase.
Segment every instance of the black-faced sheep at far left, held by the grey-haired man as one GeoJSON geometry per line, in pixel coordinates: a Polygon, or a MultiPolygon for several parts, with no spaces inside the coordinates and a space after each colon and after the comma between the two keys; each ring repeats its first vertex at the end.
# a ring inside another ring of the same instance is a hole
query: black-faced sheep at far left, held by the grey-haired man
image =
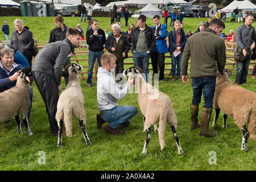
{"type": "Polygon", "coordinates": [[[13,88],[0,93],[0,123],[15,117],[18,128],[17,132],[22,133],[22,127],[19,118],[19,114],[21,114],[28,135],[33,135],[30,130],[30,126],[28,125],[27,118],[27,113],[30,109],[29,84],[31,84],[31,82],[31,67],[23,68],[21,71],[19,71],[19,77],[16,81],[16,85],[13,88]]]}

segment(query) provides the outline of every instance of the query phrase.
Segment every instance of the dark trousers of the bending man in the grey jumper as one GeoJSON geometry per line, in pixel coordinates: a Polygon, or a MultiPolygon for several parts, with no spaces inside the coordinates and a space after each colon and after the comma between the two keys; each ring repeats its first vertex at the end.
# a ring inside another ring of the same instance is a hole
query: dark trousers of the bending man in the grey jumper
{"type": "Polygon", "coordinates": [[[51,133],[57,134],[59,126],[55,119],[57,111],[57,102],[59,100],[59,89],[55,77],[42,72],[32,72],[35,84],[46,105],[46,111],[49,118],[51,133]]]}

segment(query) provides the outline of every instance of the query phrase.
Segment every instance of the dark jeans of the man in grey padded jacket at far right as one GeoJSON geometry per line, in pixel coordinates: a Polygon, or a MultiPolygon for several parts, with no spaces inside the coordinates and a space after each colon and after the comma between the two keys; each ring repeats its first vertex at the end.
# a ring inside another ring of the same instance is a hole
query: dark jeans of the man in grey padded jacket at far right
{"type": "Polygon", "coordinates": [[[235,84],[246,84],[246,77],[248,73],[249,63],[251,61],[251,50],[249,51],[249,57],[247,60],[237,62],[237,73],[235,84]]]}

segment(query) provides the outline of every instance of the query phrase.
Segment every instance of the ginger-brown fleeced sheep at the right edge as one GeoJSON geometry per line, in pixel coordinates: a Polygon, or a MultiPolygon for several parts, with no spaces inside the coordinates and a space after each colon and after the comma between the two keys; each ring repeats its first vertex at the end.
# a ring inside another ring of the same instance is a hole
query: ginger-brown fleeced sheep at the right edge
{"type": "Polygon", "coordinates": [[[243,135],[241,150],[246,151],[248,137],[256,140],[256,94],[240,86],[232,85],[228,73],[231,75],[230,69],[226,68],[217,76],[213,98],[213,107],[216,110],[213,126],[216,125],[220,110],[225,113],[223,128],[226,127],[227,116],[233,117],[234,123],[240,128],[243,135]]]}

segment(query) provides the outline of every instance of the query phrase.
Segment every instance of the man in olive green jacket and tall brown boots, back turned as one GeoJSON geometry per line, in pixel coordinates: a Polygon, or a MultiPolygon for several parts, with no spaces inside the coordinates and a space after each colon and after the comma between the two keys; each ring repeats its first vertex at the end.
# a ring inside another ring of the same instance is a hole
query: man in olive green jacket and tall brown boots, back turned
{"type": "Polygon", "coordinates": [[[224,28],[225,24],[221,19],[213,19],[209,28],[204,28],[203,31],[188,39],[181,58],[181,75],[185,84],[188,84],[189,81],[187,69],[189,57],[191,58],[190,70],[193,89],[193,99],[190,107],[191,130],[200,127],[197,116],[203,92],[204,106],[201,112],[200,135],[204,137],[214,137],[218,134],[216,131],[209,130],[209,122],[212,115],[217,69],[222,72],[226,63],[225,43],[220,38],[224,28]]]}

